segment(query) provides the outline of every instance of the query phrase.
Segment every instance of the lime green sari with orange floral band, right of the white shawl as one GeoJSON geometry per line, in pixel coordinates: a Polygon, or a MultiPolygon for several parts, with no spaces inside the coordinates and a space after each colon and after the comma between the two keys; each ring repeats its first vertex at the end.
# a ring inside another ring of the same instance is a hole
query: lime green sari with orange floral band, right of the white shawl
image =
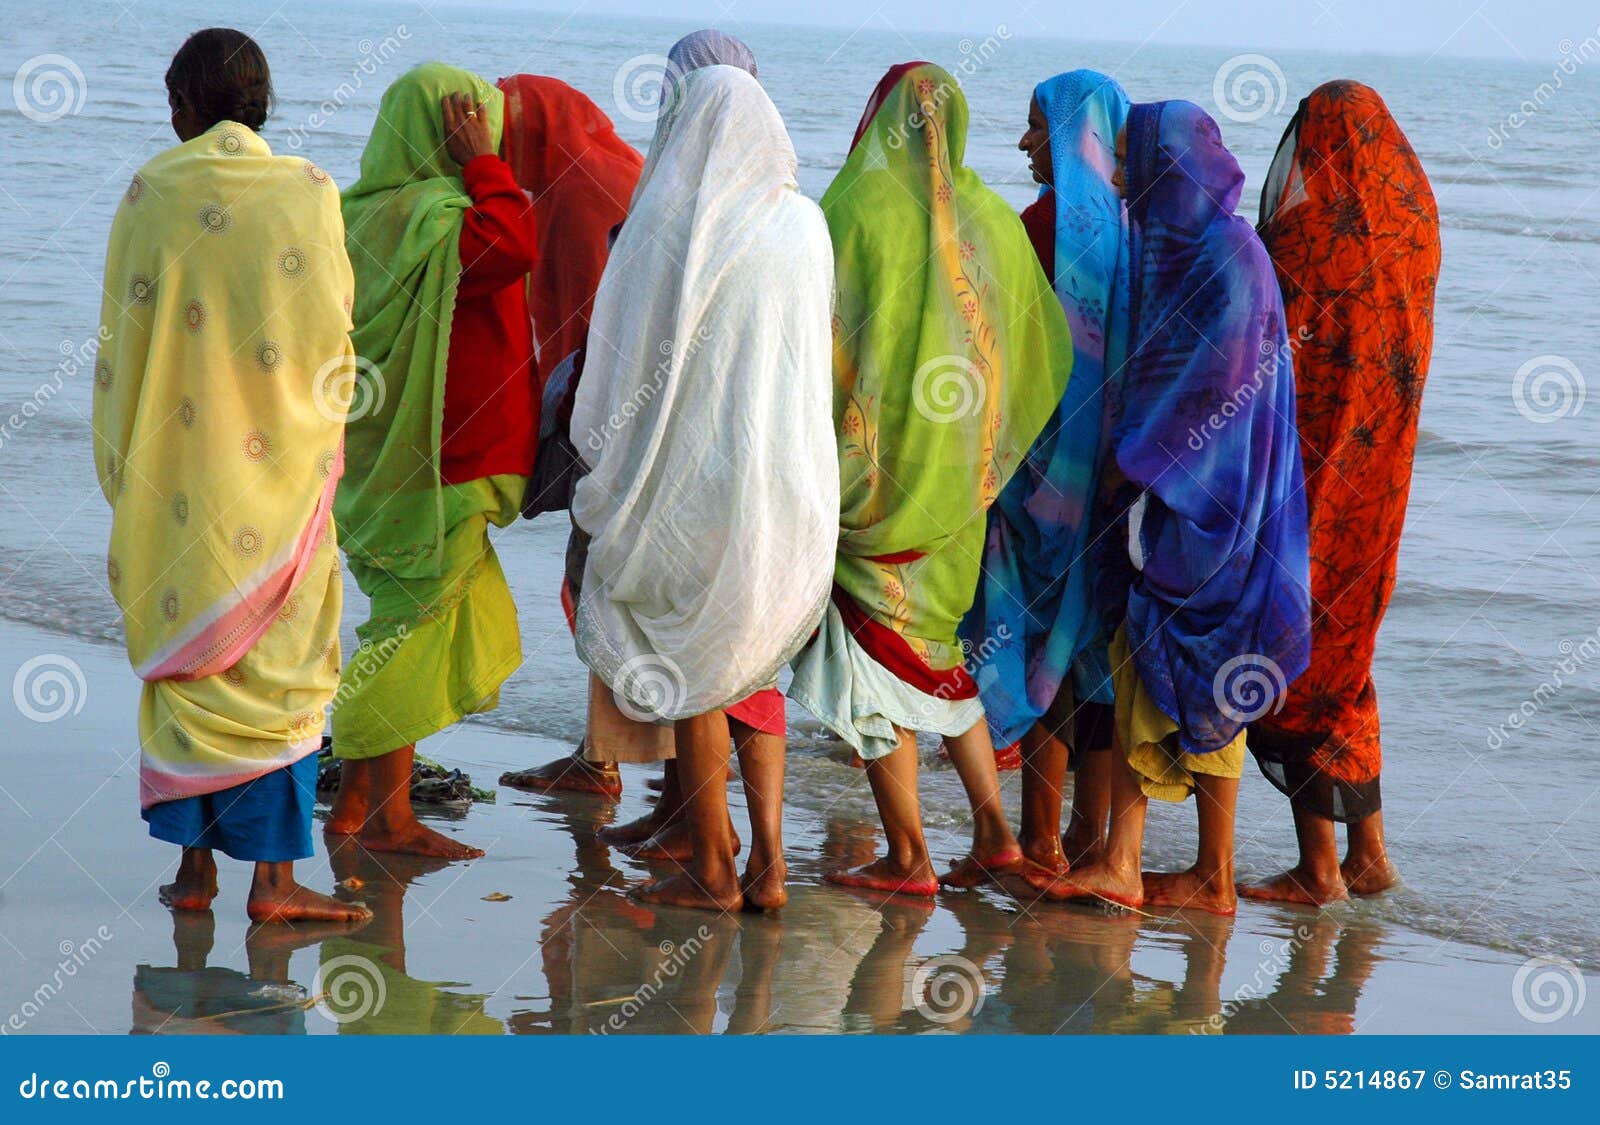
{"type": "Polygon", "coordinates": [[[822,197],[838,290],[835,581],[933,671],[962,664],[984,514],[1072,370],[1061,302],[965,146],[955,78],[898,67],[822,197]]]}

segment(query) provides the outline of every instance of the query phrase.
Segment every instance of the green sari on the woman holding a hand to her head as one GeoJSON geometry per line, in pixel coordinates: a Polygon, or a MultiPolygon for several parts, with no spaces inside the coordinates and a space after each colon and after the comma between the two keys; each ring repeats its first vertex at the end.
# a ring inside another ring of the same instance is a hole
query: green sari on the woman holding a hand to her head
{"type": "Polygon", "coordinates": [[[522,664],[517,607],[488,526],[517,517],[525,480],[440,480],[445,370],[472,206],[445,150],[440,102],[470,93],[499,142],[504,96],[424,62],[378,107],[362,178],[344,194],[355,269],[357,386],[333,514],[371,618],[333,706],[334,752],[379,757],[491,711],[522,664]]]}

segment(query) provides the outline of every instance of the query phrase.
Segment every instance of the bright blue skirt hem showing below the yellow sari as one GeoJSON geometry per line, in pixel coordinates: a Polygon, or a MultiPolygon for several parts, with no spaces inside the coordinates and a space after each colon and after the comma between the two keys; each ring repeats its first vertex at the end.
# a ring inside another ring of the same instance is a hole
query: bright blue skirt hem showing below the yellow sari
{"type": "Polygon", "coordinates": [[[150,835],[184,848],[213,848],[234,859],[286,863],[310,858],[317,803],[317,755],[232,789],[150,805],[150,835]]]}

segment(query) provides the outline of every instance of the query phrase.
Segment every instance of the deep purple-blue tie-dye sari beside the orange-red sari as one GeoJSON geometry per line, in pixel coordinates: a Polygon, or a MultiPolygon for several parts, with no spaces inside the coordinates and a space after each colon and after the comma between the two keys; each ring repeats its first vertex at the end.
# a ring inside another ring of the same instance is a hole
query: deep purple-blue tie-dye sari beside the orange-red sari
{"type": "Polygon", "coordinates": [[[1120,472],[1098,523],[1101,613],[1126,624],[1190,754],[1227,746],[1310,658],[1291,350],[1272,261],[1234,214],[1243,182],[1198,106],[1130,110],[1130,352],[1107,386],[1120,472]]]}

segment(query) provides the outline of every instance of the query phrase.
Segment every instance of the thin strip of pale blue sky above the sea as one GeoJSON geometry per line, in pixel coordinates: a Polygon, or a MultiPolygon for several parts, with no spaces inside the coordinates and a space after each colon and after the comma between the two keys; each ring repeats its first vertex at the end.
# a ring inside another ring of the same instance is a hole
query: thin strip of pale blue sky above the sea
{"type": "MultiPolygon", "coordinates": [[[[992,32],[1080,40],[1328,48],[1554,62],[1563,40],[1600,40],[1594,0],[461,0],[474,6],[992,32]]],[[[453,5],[456,0],[434,0],[453,5]]],[[[1597,75],[1600,82],[1600,75],[1597,75]]]]}

